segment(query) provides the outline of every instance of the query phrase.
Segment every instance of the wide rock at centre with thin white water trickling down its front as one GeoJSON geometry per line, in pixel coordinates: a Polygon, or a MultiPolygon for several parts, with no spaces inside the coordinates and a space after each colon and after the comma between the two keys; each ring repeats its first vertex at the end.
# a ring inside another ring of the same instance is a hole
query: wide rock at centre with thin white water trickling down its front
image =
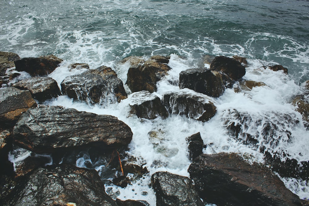
{"type": "Polygon", "coordinates": [[[206,95],[189,92],[167,92],[163,96],[163,104],[171,114],[185,115],[203,122],[210,120],[217,112],[214,103],[206,95]]]}

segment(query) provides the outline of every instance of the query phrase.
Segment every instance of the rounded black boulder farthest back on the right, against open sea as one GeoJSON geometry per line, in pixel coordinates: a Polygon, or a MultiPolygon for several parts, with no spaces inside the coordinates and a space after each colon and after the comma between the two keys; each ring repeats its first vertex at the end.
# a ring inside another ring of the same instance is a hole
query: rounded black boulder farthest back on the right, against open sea
{"type": "Polygon", "coordinates": [[[214,58],[214,61],[211,62],[210,69],[226,74],[235,81],[238,81],[246,74],[245,67],[239,61],[224,56],[214,58]]]}

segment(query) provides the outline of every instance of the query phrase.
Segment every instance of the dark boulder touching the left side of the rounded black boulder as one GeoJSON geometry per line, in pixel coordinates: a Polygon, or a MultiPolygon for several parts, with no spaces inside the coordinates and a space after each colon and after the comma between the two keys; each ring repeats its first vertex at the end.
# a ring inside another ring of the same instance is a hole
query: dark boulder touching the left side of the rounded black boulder
{"type": "Polygon", "coordinates": [[[180,72],[179,87],[213,97],[219,97],[225,90],[221,75],[210,69],[187,69],[180,72]]]}

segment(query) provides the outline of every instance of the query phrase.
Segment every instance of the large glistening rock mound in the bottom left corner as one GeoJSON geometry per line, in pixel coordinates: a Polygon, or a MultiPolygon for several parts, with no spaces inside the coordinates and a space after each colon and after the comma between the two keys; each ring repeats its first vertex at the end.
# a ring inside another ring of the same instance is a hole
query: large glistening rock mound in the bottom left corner
{"type": "Polygon", "coordinates": [[[70,165],[39,168],[14,189],[4,205],[116,206],[95,170],[70,165]]]}

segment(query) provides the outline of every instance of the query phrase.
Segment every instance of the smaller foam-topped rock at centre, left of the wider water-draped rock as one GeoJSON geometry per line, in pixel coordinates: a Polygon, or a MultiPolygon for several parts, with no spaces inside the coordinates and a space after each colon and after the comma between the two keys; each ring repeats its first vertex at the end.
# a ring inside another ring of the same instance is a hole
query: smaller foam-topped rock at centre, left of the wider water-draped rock
{"type": "Polygon", "coordinates": [[[129,96],[131,113],[138,118],[153,120],[160,116],[162,119],[168,117],[166,108],[159,97],[151,95],[148,91],[134,92],[129,96]]]}

